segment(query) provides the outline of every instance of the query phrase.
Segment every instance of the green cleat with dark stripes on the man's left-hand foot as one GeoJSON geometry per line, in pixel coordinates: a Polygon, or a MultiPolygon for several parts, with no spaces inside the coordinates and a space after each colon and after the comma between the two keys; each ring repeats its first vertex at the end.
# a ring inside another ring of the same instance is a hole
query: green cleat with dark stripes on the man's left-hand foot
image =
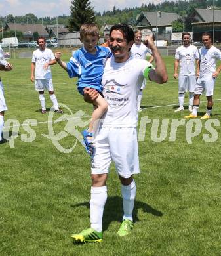
{"type": "Polygon", "coordinates": [[[82,230],[79,234],[72,234],[71,238],[73,242],[85,243],[85,242],[102,242],[103,232],[97,232],[93,228],[82,230]]]}

